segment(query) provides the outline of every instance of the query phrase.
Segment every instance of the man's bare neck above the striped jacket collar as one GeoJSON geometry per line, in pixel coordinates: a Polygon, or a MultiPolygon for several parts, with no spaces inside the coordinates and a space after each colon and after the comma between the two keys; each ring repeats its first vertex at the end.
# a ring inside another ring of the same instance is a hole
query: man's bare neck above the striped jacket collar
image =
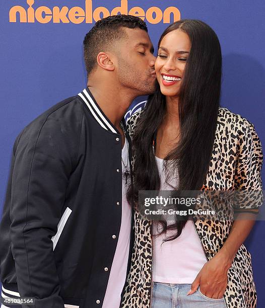
{"type": "Polygon", "coordinates": [[[94,86],[88,83],[88,88],[105,116],[120,130],[121,119],[136,96],[131,91],[115,88],[113,84],[94,86]]]}

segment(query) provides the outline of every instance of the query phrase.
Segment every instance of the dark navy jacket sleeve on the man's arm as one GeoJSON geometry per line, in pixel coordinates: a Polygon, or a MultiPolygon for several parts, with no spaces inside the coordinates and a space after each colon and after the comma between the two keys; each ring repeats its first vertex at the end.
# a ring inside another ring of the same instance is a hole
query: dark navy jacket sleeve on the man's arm
{"type": "Polygon", "coordinates": [[[36,308],[64,307],[51,238],[75,165],[77,139],[63,120],[50,115],[41,125],[32,122],[15,145],[11,250],[20,296],[35,298],[36,308]]]}

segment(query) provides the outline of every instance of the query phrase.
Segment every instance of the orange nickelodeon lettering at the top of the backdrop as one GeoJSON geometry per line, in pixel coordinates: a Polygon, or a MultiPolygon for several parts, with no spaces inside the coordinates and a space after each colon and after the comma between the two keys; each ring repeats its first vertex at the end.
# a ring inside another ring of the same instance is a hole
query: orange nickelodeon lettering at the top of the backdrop
{"type": "Polygon", "coordinates": [[[166,8],[164,12],[158,7],[149,8],[146,12],[141,7],[134,7],[128,11],[128,1],[121,0],[120,7],[114,8],[111,12],[104,7],[98,7],[93,10],[92,0],[85,0],[85,9],[80,7],[38,7],[33,8],[34,0],[27,0],[28,8],[21,6],[12,7],[9,11],[9,21],[16,23],[35,23],[47,24],[63,23],[63,24],[81,24],[83,22],[92,24],[110,15],[125,14],[138,16],[151,24],[158,24],[163,21],[164,24],[180,20],[180,12],[175,7],[166,8]],[[19,17],[19,18],[18,18],[19,17]],[[170,18],[172,17],[172,20],[170,18]]]}

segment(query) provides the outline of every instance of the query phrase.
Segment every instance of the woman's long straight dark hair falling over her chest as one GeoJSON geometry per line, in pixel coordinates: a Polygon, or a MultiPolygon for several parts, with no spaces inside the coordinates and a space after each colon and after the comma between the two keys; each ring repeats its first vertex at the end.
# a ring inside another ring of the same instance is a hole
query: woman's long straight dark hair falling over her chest
{"type": "MultiPolygon", "coordinates": [[[[179,184],[175,190],[201,190],[209,169],[217,126],[222,74],[221,47],[213,29],[199,20],[181,20],[170,25],[162,34],[158,46],[169,32],[177,29],[188,35],[191,48],[179,94],[179,141],[165,158],[166,181],[178,172],[179,184]]],[[[166,99],[156,82],[155,92],[148,98],[133,136],[134,185],[127,192],[131,205],[137,204],[139,190],[160,189],[153,138],[165,113],[166,99]]],[[[181,210],[179,205],[178,209],[181,210]]],[[[188,216],[185,217],[170,226],[167,226],[166,221],[161,221],[160,234],[166,233],[167,229],[176,230],[166,241],[180,236],[188,219],[188,216]]]]}

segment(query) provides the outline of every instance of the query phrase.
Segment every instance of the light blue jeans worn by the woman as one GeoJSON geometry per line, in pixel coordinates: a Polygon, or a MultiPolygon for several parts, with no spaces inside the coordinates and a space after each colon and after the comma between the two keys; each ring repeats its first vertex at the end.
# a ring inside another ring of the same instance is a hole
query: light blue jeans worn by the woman
{"type": "Polygon", "coordinates": [[[223,298],[214,299],[202,294],[200,287],[187,295],[190,284],[154,282],[152,308],[224,308],[223,298]]]}

